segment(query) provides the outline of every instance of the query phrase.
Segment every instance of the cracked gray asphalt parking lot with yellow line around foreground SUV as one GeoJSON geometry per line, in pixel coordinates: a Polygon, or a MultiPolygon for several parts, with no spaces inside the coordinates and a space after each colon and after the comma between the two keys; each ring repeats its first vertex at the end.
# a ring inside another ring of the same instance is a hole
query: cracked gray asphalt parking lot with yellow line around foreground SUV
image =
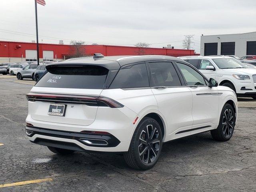
{"type": "Polygon", "coordinates": [[[216,142],[208,132],[168,142],[154,168],[136,171],[121,155],[58,156],[30,143],[24,131],[25,94],[33,84],[0,76],[0,192],[256,191],[252,99],[239,99],[238,122],[228,142],[216,142]]]}

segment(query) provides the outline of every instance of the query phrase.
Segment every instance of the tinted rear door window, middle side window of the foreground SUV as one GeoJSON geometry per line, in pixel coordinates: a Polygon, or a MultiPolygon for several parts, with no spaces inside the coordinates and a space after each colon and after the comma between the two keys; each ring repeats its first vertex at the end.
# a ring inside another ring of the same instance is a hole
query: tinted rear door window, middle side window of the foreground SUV
{"type": "Polygon", "coordinates": [[[150,86],[181,86],[180,79],[171,62],[148,63],[150,86]]]}

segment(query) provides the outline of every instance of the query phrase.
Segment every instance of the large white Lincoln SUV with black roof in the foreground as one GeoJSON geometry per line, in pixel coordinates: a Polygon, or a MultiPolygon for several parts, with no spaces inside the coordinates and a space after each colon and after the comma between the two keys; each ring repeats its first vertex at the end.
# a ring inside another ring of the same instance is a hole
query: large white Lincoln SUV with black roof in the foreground
{"type": "Polygon", "coordinates": [[[129,166],[146,170],[163,142],[233,134],[235,92],[179,58],[94,54],[46,69],[26,95],[26,134],[56,154],[122,152],[129,166]]]}

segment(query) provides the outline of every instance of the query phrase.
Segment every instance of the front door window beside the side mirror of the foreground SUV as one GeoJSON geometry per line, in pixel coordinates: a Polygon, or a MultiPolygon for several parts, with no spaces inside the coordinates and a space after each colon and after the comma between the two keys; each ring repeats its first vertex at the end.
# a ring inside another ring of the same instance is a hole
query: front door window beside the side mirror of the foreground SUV
{"type": "Polygon", "coordinates": [[[188,85],[206,85],[204,77],[196,70],[194,70],[192,67],[182,63],[177,63],[177,65],[180,68],[183,76],[185,77],[185,80],[188,83],[188,85]]]}

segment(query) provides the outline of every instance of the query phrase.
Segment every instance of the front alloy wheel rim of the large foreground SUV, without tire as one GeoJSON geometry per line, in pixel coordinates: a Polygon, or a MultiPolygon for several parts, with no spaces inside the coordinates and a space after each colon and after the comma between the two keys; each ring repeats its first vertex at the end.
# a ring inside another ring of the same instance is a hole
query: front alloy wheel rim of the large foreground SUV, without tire
{"type": "Polygon", "coordinates": [[[229,137],[234,130],[234,115],[232,110],[226,109],[222,115],[222,132],[225,137],[229,137]]]}

